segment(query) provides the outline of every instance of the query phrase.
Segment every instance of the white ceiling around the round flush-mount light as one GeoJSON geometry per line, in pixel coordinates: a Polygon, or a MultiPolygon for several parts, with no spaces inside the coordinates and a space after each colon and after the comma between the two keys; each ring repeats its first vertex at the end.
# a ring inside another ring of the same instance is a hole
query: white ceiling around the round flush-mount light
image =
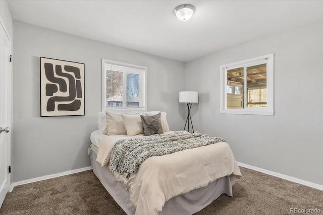
{"type": "Polygon", "coordinates": [[[323,19],[323,1],[7,2],[14,20],[183,62],[323,19]]]}

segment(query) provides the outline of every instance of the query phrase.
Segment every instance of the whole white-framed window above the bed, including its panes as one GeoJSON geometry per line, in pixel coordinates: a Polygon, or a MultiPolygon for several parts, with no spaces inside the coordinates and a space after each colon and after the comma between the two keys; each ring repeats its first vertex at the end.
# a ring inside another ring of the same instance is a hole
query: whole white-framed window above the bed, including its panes
{"type": "Polygon", "coordinates": [[[102,110],[146,110],[147,67],[102,59],[102,110]]]}

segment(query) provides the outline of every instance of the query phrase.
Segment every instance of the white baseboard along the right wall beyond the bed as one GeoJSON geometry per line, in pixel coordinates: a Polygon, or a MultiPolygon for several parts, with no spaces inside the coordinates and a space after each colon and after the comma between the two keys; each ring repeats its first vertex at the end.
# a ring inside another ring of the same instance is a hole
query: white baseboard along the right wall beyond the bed
{"type": "Polygon", "coordinates": [[[288,175],[280,174],[280,173],[273,172],[273,171],[270,171],[270,170],[261,169],[259,167],[254,167],[254,166],[244,164],[244,163],[240,163],[240,162],[237,162],[237,164],[240,167],[245,167],[247,169],[255,170],[257,172],[262,172],[264,174],[272,175],[272,176],[275,176],[275,177],[278,177],[278,178],[282,178],[282,179],[285,179],[287,181],[292,181],[292,182],[302,184],[302,185],[305,185],[305,186],[308,186],[308,187],[313,187],[313,188],[318,189],[318,190],[323,190],[323,185],[320,185],[320,184],[315,184],[315,183],[312,183],[312,182],[309,182],[309,181],[304,181],[304,180],[294,178],[294,177],[291,177],[291,176],[288,176],[288,175]]]}

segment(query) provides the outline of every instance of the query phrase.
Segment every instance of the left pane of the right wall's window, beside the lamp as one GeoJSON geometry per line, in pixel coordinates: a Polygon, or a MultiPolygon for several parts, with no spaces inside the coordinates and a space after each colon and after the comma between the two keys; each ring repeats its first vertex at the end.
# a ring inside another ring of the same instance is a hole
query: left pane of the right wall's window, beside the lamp
{"type": "Polygon", "coordinates": [[[243,67],[227,70],[227,108],[243,108],[243,67]],[[230,91],[228,91],[230,89],[230,91]]]}

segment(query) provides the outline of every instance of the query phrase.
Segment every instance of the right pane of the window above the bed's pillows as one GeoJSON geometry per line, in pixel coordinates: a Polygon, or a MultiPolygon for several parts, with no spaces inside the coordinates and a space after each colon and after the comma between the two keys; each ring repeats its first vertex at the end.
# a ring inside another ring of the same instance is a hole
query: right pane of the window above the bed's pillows
{"type": "Polygon", "coordinates": [[[139,107],[140,104],[140,75],[127,74],[127,107],[139,107]]]}

